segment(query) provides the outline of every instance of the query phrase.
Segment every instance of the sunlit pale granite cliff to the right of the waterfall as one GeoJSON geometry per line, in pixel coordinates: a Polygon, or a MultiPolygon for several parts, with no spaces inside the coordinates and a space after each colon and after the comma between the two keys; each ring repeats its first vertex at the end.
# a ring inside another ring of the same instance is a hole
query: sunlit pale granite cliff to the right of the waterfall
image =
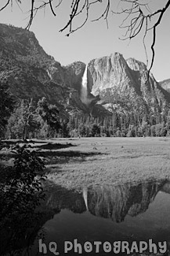
{"type": "Polygon", "coordinates": [[[170,94],[134,58],[125,61],[119,53],[110,54],[90,61],[88,68],[92,94],[99,95],[100,103],[110,111],[128,109],[130,102],[132,108],[138,102],[148,112],[161,112],[170,102],[170,94]]]}

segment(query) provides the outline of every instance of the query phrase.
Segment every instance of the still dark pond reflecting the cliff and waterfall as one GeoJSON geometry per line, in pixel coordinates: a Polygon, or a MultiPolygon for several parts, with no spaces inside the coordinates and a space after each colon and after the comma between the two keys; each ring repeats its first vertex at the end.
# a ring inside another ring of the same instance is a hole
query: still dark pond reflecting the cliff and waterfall
{"type": "MultiPolygon", "coordinates": [[[[94,241],[170,241],[170,182],[165,180],[84,187],[80,193],[52,186],[43,211],[42,243],[47,247],[46,255],[54,255],[48,247],[51,241],[57,243],[60,255],[78,255],[74,247],[63,254],[64,241],[73,243],[74,239],[82,245],[81,255],[110,255],[102,247],[99,254],[95,253],[96,247],[91,253],[85,252],[86,241],[92,245],[94,241]]],[[[32,255],[38,253],[38,239],[34,240],[32,255]]],[[[113,250],[111,254],[114,255],[113,250]]]]}

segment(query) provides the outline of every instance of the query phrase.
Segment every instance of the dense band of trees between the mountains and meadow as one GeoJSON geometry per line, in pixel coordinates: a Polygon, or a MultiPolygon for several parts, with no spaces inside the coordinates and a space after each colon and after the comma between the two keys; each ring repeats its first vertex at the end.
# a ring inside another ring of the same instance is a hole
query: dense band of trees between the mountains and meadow
{"type": "Polygon", "coordinates": [[[170,135],[170,110],[163,113],[139,113],[131,111],[112,116],[92,117],[74,114],[60,117],[60,109],[46,98],[37,103],[20,100],[11,113],[6,127],[5,139],[48,139],[52,137],[141,137],[170,135]]]}

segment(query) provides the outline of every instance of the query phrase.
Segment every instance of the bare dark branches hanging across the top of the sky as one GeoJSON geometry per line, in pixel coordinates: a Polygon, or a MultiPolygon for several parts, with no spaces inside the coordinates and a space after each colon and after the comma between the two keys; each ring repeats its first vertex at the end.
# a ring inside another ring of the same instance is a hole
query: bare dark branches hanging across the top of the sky
{"type": "MultiPolygon", "coordinates": [[[[13,6],[13,2],[13,0],[6,0],[5,4],[4,2],[0,4],[0,11],[5,9],[7,6],[13,6]]],[[[121,11],[112,9],[113,2],[115,3],[115,0],[30,0],[31,9],[28,10],[29,18],[26,28],[31,28],[34,17],[39,10],[48,7],[51,10],[52,15],[56,16],[57,12],[62,11],[59,7],[64,3],[71,11],[67,19],[67,24],[63,25],[63,28],[60,29],[60,32],[67,32],[66,35],[69,36],[71,33],[76,32],[78,29],[82,28],[90,19],[89,12],[91,9],[100,5],[102,9],[100,16],[91,21],[99,21],[103,19],[106,20],[108,26],[107,18],[110,13],[122,14],[122,23],[120,28],[126,29],[125,37],[122,39],[133,39],[139,35],[139,33],[144,32],[143,45],[145,51],[146,35],[149,31],[152,32],[152,43],[150,45],[152,50],[152,58],[150,64],[151,69],[154,64],[154,45],[156,42],[157,26],[161,24],[161,20],[168,7],[170,6],[170,0],[166,0],[165,2],[160,1],[162,5],[161,8],[154,9],[153,11],[150,9],[149,0],[146,0],[146,2],[143,2],[143,0],[119,0],[118,6],[121,8],[121,11]],[[165,6],[163,6],[164,4],[165,6]],[[82,21],[81,24],[74,22],[78,16],[84,17],[84,21],[82,21]]],[[[22,9],[22,6],[24,5],[23,0],[15,0],[15,3],[22,9]]],[[[146,62],[148,62],[147,54],[146,62]]]]}

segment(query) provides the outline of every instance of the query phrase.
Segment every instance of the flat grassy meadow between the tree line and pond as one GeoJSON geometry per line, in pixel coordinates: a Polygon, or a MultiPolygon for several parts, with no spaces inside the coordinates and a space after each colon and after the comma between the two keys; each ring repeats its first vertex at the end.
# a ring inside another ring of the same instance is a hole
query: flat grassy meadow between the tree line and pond
{"type": "Polygon", "coordinates": [[[48,156],[48,180],[63,187],[79,190],[170,179],[170,138],[74,138],[46,143],[38,147],[48,156]]]}

